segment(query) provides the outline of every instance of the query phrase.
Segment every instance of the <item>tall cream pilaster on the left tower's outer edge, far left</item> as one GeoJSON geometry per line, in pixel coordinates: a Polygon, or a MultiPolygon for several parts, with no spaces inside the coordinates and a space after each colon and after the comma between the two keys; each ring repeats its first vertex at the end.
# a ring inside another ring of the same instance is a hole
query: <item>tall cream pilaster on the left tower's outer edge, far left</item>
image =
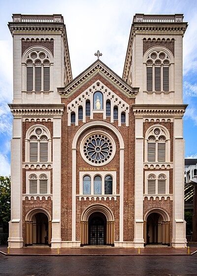
{"type": "Polygon", "coordinates": [[[11,140],[11,220],[9,221],[8,246],[23,247],[22,234],[22,118],[13,119],[11,140]]]}

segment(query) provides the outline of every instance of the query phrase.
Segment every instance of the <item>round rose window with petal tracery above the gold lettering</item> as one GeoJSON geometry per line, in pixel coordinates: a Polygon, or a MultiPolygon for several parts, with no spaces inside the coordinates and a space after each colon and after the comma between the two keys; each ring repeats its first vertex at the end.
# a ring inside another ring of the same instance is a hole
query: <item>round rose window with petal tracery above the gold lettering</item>
{"type": "Polygon", "coordinates": [[[81,154],[87,163],[102,166],[114,157],[115,143],[104,133],[89,134],[81,143],[81,154]]]}

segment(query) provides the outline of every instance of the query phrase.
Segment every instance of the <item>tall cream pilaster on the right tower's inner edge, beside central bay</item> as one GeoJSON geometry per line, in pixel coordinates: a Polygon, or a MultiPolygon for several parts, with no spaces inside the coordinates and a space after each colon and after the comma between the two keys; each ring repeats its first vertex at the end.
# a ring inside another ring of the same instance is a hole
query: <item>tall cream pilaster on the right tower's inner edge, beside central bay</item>
{"type": "Polygon", "coordinates": [[[143,239],[143,118],[135,118],[135,204],[134,247],[144,247],[143,239]]]}

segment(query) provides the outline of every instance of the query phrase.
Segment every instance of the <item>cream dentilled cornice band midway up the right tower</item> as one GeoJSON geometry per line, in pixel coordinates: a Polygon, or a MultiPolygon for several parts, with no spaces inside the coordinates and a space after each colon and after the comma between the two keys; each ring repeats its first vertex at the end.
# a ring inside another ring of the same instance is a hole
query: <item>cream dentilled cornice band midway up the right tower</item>
{"type": "Polygon", "coordinates": [[[132,104],[134,116],[183,117],[188,104],[132,104]]]}

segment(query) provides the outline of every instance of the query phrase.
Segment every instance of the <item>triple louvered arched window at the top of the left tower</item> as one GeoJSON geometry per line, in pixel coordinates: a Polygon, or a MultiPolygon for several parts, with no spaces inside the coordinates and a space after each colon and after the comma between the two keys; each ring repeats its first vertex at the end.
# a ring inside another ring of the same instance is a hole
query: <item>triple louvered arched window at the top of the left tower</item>
{"type": "Polygon", "coordinates": [[[27,91],[50,91],[50,61],[43,51],[33,51],[26,59],[27,91]]]}

